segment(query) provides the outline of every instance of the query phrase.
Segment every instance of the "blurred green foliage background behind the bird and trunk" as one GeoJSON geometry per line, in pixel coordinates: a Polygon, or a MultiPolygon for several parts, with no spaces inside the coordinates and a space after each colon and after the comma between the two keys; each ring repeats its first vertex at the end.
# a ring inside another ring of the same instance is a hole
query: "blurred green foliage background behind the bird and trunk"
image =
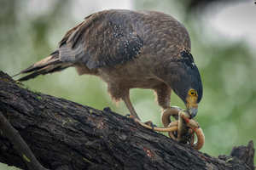
{"type": "MultiPolygon", "coordinates": [[[[55,50],[66,31],[79,24],[85,16],[102,10],[95,8],[96,4],[77,1],[81,4],[74,5],[74,2],[0,0],[0,70],[15,75],[44,59],[55,50]],[[79,13],[79,17],[75,13],[79,13]]],[[[207,8],[211,8],[211,3],[207,8]]],[[[186,0],[165,0],[161,3],[140,0],[134,3],[134,9],[153,9],[171,14],[189,31],[192,54],[201,71],[204,88],[199,113],[195,117],[206,136],[206,144],[201,151],[211,156],[229,155],[234,145],[248,144],[251,139],[256,142],[256,131],[253,130],[256,122],[255,49],[243,40],[210,35],[213,33],[206,31],[201,20],[207,10],[201,6],[192,8],[186,0]]],[[[99,110],[108,106],[119,114],[128,113],[123,102],[119,107],[112,103],[107,84],[100,78],[79,77],[73,68],[24,83],[44,94],[99,110]]],[[[160,107],[154,104],[152,90],[132,89],[131,102],[143,121],[151,120],[161,126],[160,107]]],[[[174,93],[171,104],[184,108],[174,93]]],[[[6,167],[1,166],[0,169],[6,167]]]]}

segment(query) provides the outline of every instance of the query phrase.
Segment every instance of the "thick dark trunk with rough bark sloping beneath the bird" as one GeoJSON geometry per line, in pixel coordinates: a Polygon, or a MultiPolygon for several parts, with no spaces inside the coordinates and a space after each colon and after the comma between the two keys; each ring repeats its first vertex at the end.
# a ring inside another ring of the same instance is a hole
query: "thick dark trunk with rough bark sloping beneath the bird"
{"type": "MultiPolygon", "coordinates": [[[[254,168],[253,161],[246,161],[253,160],[253,141],[244,146],[249,153],[243,150],[239,156],[209,156],[141,127],[109,108],[99,111],[38,93],[2,71],[0,112],[20,133],[39,163],[49,169],[254,168]]],[[[17,146],[2,130],[0,161],[28,169],[17,146]]]]}

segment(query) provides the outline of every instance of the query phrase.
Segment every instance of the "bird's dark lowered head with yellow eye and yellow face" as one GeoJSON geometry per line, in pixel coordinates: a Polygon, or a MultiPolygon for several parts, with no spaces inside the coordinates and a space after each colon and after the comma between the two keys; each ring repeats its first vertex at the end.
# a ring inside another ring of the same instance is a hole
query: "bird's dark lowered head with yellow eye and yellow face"
{"type": "Polygon", "coordinates": [[[192,54],[183,50],[170,68],[172,68],[172,74],[170,74],[168,84],[174,93],[183,100],[187,111],[193,118],[197,114],[198,104],[202,98],[202,83],[192,54]]]}

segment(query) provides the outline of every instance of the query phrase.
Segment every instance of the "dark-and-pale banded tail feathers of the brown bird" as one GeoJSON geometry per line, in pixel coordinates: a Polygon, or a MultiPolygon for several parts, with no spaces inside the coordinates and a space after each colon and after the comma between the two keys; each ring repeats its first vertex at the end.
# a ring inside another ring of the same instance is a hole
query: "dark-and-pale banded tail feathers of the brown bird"
{"type": "Polygon", "coordinates": [[[18,81],[26,81],[31,78],[38,77],[39,75],[45,75],[45,74],[53,73],[56,71],[62,71],[71,65],[73,65],[73,63],[61,62],[59,59],[59,50],[55,50],[55,52],[52,53],[49,57],[38,61],[36,64],[26,68],[24,71],[20,71],[20,73],[16,74],[15,76],[23,73],[32,72],[26,77],[21,77],[18,80],[18,81]]]}

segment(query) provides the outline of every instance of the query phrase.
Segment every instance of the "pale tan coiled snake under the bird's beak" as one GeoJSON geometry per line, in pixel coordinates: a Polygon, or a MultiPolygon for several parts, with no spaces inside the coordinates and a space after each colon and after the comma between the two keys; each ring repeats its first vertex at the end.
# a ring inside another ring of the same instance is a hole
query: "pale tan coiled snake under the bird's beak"
{"type": "Polygon", "coordinates": [[[167,132],[171,139],[178,142],[189,142],[189,145],[195,150],[201,150],[205,142],[205,136],[199,123],[196,122],[194,118],[190,119],[189,112],[183,111],[181,108],[176,106],[168,107],[162,112],[161,122],[164,127],[152,127],[148,123],[143,123],[137,119],[135,119],[135,122],[154,131],[167,132]],[[171,116],[173,116],[176,121],[172,122],[171,116]],[[177,137],[173,132],[177,132],[177,137]],[[197,140],[195,142],[194,133],[197,136],[197,140]],[[185,136],[188,138],[185,138],[185,136]]]}

